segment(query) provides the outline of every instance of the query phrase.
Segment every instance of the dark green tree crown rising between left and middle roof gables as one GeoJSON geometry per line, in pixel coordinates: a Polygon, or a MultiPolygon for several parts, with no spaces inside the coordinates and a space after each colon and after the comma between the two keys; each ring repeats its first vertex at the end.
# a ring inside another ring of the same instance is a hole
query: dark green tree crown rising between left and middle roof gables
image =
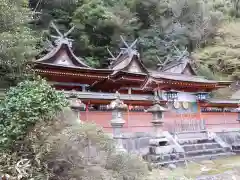
{"type": "Polygon", "coordinates": [[[100,65],[106,63],[106,48],[118,45],[116,36],[119,39],[121,33],[132,34],[134,27],[131,26],[136,24],[135,17],[121,2],[114,3],[100,0],[84,1],[74,12],[72,20],[79,31],[74,35],[78,41],[77,53],[80,56],[93,57],[92,61],[99,61],[100,65]]]}

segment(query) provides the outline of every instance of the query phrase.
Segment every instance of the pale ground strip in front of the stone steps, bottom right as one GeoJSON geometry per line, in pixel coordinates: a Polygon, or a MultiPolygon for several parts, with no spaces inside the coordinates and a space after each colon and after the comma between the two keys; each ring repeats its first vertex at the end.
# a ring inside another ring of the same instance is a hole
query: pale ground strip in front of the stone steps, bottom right
{"type": "Polygon", "coordinates": [[[240,156],[191,162],[174,170],[153,169],[147,180],[240,180],[240,156]]]}

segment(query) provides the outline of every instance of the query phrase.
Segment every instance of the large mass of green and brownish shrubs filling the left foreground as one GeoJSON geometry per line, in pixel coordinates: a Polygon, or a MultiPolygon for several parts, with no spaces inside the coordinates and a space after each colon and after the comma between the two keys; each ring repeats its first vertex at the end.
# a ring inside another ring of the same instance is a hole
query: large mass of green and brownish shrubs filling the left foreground
{"type": "Polygon", "coordinates": [[[63,109],[66,105],[63,94],[41,79],[7,93],[0,109],[0,143],[6,149],[0,151],[0,175],[10,180],[146,180],[142,159],[116,152],[101,128],[81,123],[70,108],[63,109]]]}

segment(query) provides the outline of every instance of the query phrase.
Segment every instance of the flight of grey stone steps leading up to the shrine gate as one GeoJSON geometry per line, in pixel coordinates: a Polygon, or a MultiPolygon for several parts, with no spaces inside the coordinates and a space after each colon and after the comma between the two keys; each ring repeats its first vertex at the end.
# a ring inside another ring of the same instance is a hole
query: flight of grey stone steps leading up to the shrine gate
{"type": "Polygon", "coordinates": [[[178,143],[184,149],[185,160],[213,159],[233,154],[231,148],[224,147],[214,134],[207,131],[182,132],[176,136],[178,143]]]}

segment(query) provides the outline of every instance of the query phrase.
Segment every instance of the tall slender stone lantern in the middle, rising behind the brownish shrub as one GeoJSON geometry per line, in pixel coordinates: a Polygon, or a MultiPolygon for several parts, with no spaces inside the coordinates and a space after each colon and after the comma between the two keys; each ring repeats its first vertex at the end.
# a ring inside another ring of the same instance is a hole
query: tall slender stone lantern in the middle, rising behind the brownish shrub
{"type": "Polygon", "coordinates": [[[123,119],[123,112],[127,110],[127,105],[120,100],[120,94],[116,92],[116,99],[110,103],[110,109],[112,110],[111,126],[113,128],[113,138],[117,141],[117,149],[125,151],[122,145],[122,132],[121,129],[125,124],[123,119]]]}

